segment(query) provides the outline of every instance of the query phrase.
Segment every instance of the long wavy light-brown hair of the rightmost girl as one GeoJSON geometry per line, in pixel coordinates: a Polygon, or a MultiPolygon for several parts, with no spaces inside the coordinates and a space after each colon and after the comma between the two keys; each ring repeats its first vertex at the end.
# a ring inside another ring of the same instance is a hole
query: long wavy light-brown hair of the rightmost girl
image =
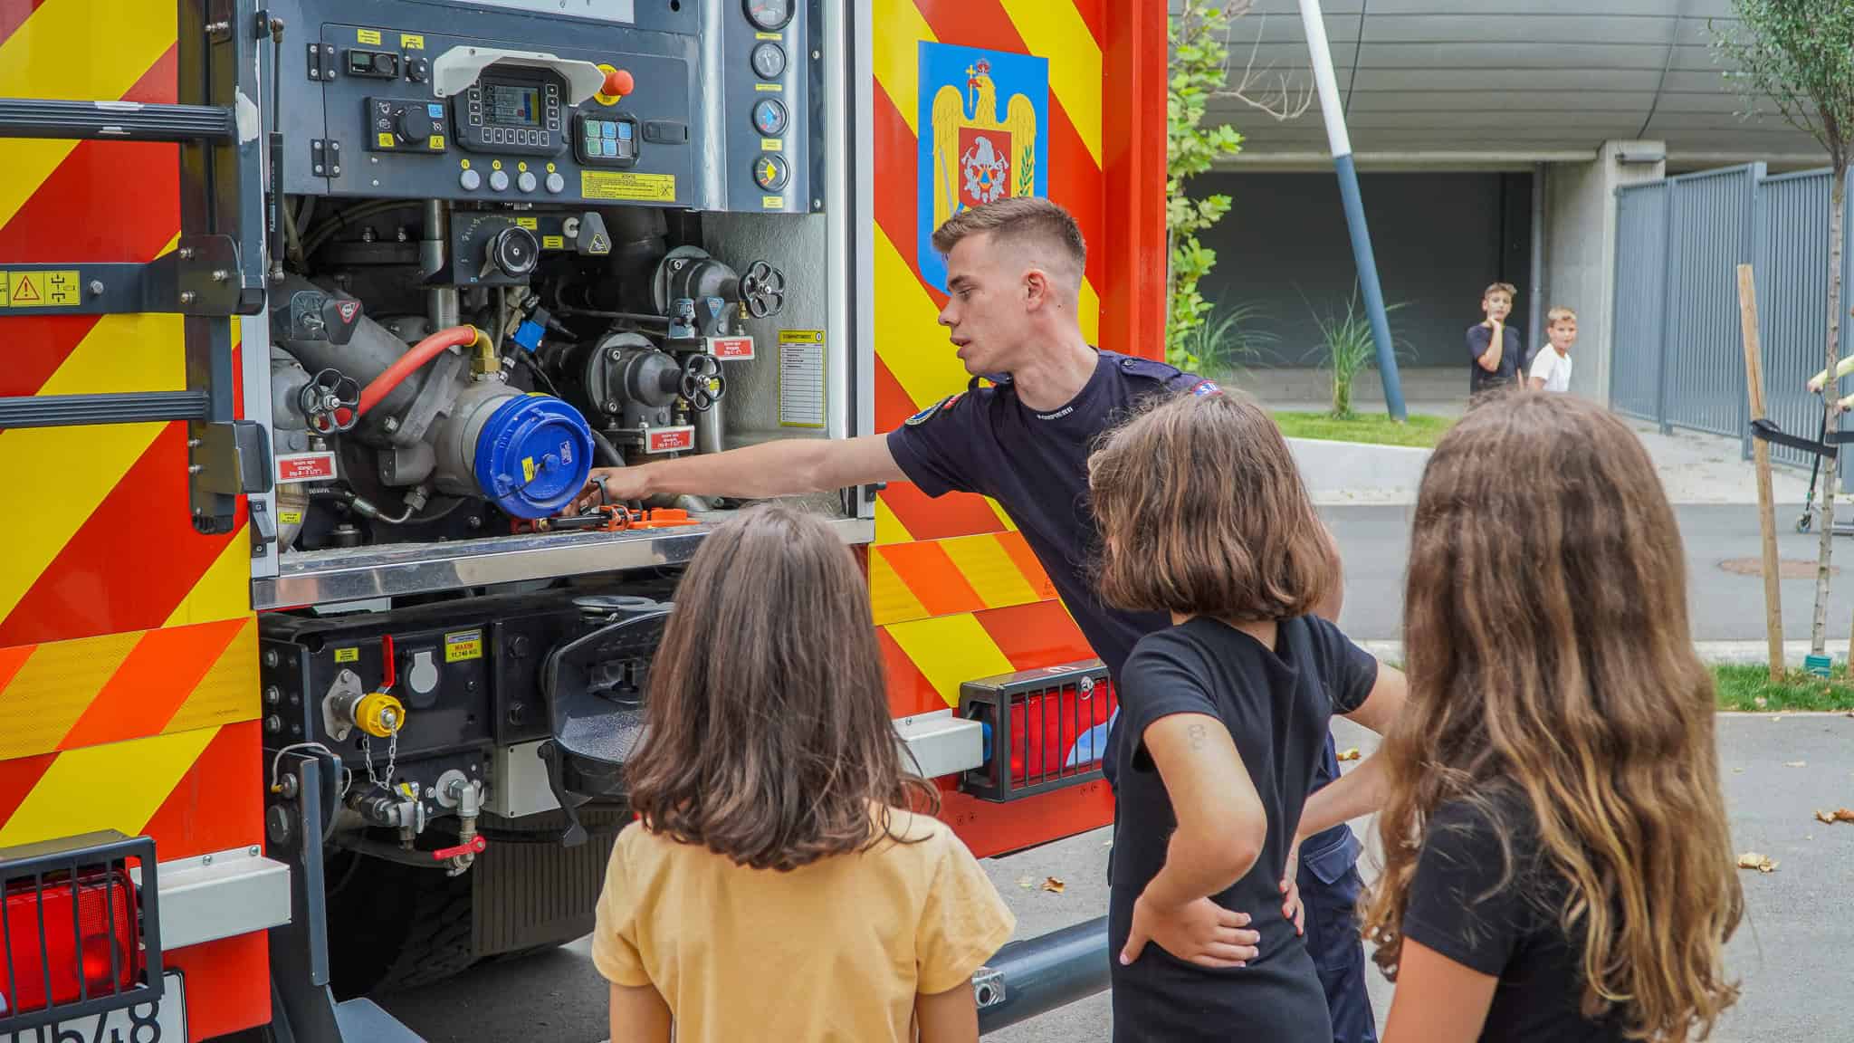
{"type": "MultiPolygon", "coordinates": [[[[1385,739],[1385,869],[1365,934],[1396,976],[1424,830],[1444,802],[1537,818],[1568,891],[1583,1015],[1633,1039],[1711,1034],[1737,1000],[1743,915],[1713,746],[1713,681],[1687,629],[1674,510],[1635,434],[1568,395],[1505,392],[1437,445],[1416,499],[1385,739]]],[[[1505,885],[1513,874],[1509,824],[1505,885]]]]}

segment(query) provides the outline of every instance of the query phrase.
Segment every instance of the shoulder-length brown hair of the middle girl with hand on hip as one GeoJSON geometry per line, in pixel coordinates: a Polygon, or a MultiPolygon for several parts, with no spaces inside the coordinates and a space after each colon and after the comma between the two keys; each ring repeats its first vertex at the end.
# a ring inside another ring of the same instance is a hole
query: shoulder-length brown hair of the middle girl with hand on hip
{"type": "Polygon", "coordinates": [[[1172,395],[1088,458],[1109,605],[1233,622],[1313,612],[1337,555],[1281,429],[1248,395],[1172,395]]]}

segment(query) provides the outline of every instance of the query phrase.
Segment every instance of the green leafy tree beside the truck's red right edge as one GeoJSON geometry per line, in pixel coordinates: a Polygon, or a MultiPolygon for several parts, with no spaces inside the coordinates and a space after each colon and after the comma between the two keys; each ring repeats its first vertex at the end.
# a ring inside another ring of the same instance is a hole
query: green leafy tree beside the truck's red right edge
{"type": "MultiPolygon", "coordinates": [[[[1240,11],[1238,11],[1240,13],[1240,11]]],[[[1229,124],[1203,126],[1203,109],[1224,89],[1229,67],[1229,22],[1225,7],[1207,0],[1185,0],[1172,15],[1170,91],[1166,95],[1166,362],[1198,369],[1190,351],[1192,330],[1211,314],[1211,303],[1198,293],[1198,280],[1216,265],[1216,251],[1198,241],[1198,232],[1229,213],[1227,195],[1192,199],[1185,182],[1211,169],[1222,156],[1242,150],[1242,135],[1229,124]]]]}

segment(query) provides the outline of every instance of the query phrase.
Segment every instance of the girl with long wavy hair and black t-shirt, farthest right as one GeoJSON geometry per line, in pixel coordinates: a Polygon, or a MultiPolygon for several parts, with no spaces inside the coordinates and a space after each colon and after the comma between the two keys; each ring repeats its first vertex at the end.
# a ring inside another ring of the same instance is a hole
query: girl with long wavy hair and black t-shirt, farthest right
{"type": "Polygon", "coordinates": [[[1422,477],[1366,915],[1385,1043],[1704,1037],[1743,898],[1674,512],[1635,434],[1504,395],[1422,477]]]}

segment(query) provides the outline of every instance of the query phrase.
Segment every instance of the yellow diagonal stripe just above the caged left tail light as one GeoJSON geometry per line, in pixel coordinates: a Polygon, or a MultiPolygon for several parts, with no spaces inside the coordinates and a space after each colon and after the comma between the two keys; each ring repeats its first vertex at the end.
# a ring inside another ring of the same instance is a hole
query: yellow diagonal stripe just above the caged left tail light
{"type": "Polygon", "coordinates": [[[217,728],[67,750],[0,826],[0,848],[93,830],[141,833],[217,728]]]}

